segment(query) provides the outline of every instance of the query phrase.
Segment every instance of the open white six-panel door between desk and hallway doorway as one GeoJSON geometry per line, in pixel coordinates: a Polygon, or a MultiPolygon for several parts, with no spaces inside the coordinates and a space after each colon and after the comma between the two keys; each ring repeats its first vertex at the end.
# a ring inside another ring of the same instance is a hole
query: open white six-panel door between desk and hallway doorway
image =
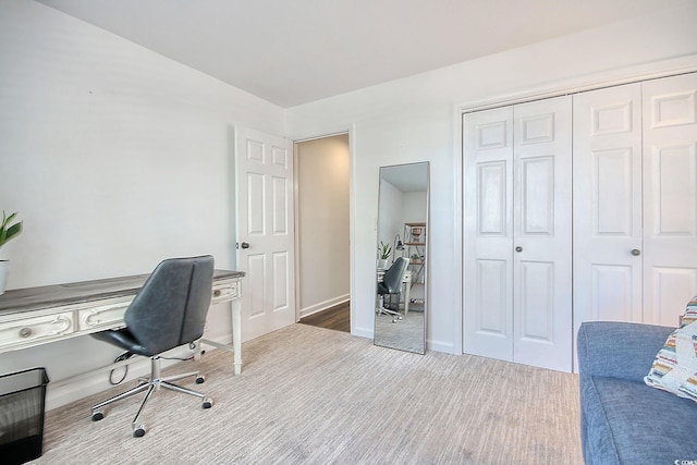
{"type": "Polygon", "coordinates": [[[295,322],[292,143],[235,127],[242,340],[295,322]]]}

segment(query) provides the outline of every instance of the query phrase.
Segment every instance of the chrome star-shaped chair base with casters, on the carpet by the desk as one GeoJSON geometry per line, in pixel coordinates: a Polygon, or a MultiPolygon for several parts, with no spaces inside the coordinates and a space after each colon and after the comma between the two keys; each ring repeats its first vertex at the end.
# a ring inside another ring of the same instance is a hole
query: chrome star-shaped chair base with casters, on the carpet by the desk
{"type": "Polygon", "coordinates": [[[105,417],[105,414],[101,411],[102,407],[109,404],[112,404],[114,402],[121,401],[123,399],[130,397],[132,395],[135,395],[138,392],[143,392],[147,390],[145,397],[143,399],[143,402],[140,402],[138,412],[135,414],[135,417],[131,423],[133,427],[133,436],[136,438],[140,438],[145,436],[146,428],[144,424],[138,421],[138,419],[140,418],[140,414],[143,413],[143,408],[145,407],[145,404],[148,402],[148,400],[155,393],[155,391],[159,390],[160,388],[164,388],[171,391],[181,392],[183,394],[189,394],[189,395],[199,397],[201,400],[201,408],[212,407],[213,402],[211,399],[207,397],[206,394],[198,391],[194,391],[193,389],[182,388],[181,386],[178,386],[171,382],[171,381],[176,381],[191,376],[195,376],[196,383],[200,384],[201,382],[204,382],[204,377],[199,372],[193,371],[193,372],[186,372],[186,374],[174,375],[167,378],[162,378],[160,376],[160,369],[161,369],[160,357],[159,356],[150,357],[150,377],[138,378],[138,386],[136,386],[135,388],[130,389],[126,392],[122,392],[121,394],[114,395],[111,399],[107,399],[106,401],[94,405],[91,407],[91,420],[99,421],[105,417]]]}

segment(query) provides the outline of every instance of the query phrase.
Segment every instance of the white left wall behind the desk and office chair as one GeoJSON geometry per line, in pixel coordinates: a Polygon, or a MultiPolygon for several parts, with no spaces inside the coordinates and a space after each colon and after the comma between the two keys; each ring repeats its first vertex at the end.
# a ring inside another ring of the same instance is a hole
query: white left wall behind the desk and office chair
{"type": "MultiPolygon", "coordinates": [[[[194,254],[234,267],[234,124],[282,134],[283,110],[42,4],[0,2],[0,209],[24,220],[0,250],[9,287],[194,254]]],[[[228,309],[211,309],[212,338],[230,336],[228,309]]],[[[57,381],[118,352],[77,338],[2,354],[0,372],[46,366],[57,381]]],[[[51,384],[49,406],[70,400],[51,384]]]]}

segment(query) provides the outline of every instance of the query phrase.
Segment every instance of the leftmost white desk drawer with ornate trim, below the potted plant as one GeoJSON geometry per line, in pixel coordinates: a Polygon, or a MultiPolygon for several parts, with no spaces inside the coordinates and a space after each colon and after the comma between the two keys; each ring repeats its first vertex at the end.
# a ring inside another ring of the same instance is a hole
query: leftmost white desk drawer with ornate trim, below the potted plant
{"type": "Polygon", "coordinates": [[[27,318],[0,323],[0,348],[33,345],[40,341],[59,339],[75,332],[73,313],[27,318]]]}

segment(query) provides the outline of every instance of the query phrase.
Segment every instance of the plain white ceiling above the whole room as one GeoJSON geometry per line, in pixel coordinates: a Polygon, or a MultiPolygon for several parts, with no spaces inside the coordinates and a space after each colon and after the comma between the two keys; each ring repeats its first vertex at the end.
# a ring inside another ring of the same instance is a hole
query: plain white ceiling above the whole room
{"type": "Polygon", "coordinates": [[[694,0],[37,0],[289,108],[694,0]]]}

